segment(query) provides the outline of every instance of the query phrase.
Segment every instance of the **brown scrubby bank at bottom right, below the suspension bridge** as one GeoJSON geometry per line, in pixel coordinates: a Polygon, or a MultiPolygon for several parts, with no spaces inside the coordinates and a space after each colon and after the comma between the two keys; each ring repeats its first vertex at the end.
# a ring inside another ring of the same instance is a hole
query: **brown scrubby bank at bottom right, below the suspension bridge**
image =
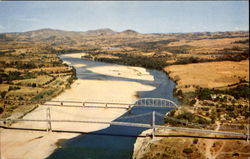
{"type": "MultiPolygon", "coordinates": [[[[151,131],[146,130],[142,134],[150,134],[151,131]]],[[[171,130],[156,130],[156,132],[159,135],[169,136],[156,137],[153,140],[150,137],[138,138],[134,146],[133,159],[246,159],[250,156],[250,147],[246,140],[215,139],[214,137],[223,138],[226,136],[204,135],[198,132],[188,133],[171,130]],[[207,138],[202,138],[202,136],[207,138]]]]}

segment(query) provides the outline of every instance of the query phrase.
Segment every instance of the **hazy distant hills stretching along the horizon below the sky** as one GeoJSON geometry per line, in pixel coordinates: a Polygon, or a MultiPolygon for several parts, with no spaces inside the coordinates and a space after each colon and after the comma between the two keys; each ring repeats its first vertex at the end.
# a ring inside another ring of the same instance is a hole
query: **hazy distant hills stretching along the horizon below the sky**
{"type": "MultiPolygon", "coordinates": [[[[88,31],[64,31],[58,29],[39,29],[27,32],[19,32],[19,33],[0,33],[0,41],[23,41],[23,42],[46,42],[52,45],[57,44],[66,44],[72,46],[73,44],[81,44],[81,45],[96,45],[91,43],[89,38],[96,40],[100,40],[98,43],[104,42],[101,39],[106,39],[105,41],[112,41],[117,43],[122,42],[138,42],[142,37],[150,37],[152,39],[157,39],[163,36],[171,36],[174,39],[181,38],[189,38],[189,39],[197,39],[201,36],[206,38],[230,38],[230,37],[239,37],[246,36],[244,33],[249,35],[249,31],[237,31],[237,32],[196,32],[196,33],[162,33],[162,34],[141,34],[134,30],[127,29],[122,32],[114,31],[110,28],[96,29],[96,30],[88,30],[88,31]],[[243,34],[242,34],[243,33],[243,34]],[[140,38],[139,36],[140,35],[140,38]],[[101,37],[102,36],[102,37],[101,37]],[[106,37],[105,37],[106,36],[106,37]],[[101,38],[98,38],[101,37],[101,38]],[[121,40],[123,39],[123,40],[121,40]],[[86,42],[89,42],[88,44],[86,42]]],[[[203,37],[203,38],[204,38],[203,37]]]]}

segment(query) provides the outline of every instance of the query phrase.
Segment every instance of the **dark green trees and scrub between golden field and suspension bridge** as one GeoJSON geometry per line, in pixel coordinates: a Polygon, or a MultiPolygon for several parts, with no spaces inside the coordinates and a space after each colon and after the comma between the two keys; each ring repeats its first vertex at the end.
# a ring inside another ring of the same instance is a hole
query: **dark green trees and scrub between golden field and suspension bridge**
{"type": "Polygon", "coordinates": [[[176,94],[181,97],[180,99],[183,104],[189,107],[181,107],[177,110],[173,110],[169,116],[165,118],[165,123],[173,126],[195,126],[192,124],[210,126],[214,124],[215,121],[222,120],[224,120],[225,123],[231,123],[235,120],[241,120],[243,122],[244,120],[247,121],[250,114],[248,108],[248,84],[239,83],[238,86],[236,85],[224,90],[197,88],[195,92],[187,93],[183,93],[179,90],[176,94]],[[201,108],[193,110],[192,106],[197,100],[201,108]]]}

